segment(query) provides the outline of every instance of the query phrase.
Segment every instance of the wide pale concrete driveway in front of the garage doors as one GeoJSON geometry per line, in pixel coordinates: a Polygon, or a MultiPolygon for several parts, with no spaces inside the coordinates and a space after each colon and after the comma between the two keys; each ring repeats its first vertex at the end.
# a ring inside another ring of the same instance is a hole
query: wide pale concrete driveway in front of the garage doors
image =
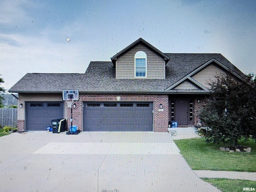
{"type": "Polygon", "coordinates": [[[220,192],[154,132],[12,133],[0,137],[0,180],[3,192],[220,192]]]}

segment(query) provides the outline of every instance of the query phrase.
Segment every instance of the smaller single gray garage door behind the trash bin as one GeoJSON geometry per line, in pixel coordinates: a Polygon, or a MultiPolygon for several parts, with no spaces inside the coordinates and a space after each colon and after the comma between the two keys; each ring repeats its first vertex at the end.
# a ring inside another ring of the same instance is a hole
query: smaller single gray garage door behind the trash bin
{"type": "Polygon", "coordinates": [[[26,130],[46,130],[58,118],[63,118],[63,102],[26,102],[26,130]]]}

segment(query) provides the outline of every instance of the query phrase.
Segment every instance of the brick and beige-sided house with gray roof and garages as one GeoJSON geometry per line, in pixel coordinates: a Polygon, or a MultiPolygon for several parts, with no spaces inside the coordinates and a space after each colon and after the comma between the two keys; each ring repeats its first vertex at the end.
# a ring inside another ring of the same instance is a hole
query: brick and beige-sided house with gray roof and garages
{"type": "Polygon", "coordinates": [[[29,73],[9,92],[19,93],[19,130],[70,118],[62,90],[76,89],[73,125],[82,131],[167,132],[170,121],[196,125],[209,83],[226,74],[245,79],[221,54],[162,53],[139,38],[111,62],[90,62],[85,74],[29,73]]]}

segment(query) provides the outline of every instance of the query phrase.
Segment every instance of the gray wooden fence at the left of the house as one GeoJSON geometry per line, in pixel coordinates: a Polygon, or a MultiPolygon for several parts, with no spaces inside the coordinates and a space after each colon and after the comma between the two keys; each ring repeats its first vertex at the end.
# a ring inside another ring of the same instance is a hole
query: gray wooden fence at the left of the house
{"type": "Polygon", "coordinates": [[[16,127],[17,114],[17,108],[0,108],[0,125],[16,127]]]}

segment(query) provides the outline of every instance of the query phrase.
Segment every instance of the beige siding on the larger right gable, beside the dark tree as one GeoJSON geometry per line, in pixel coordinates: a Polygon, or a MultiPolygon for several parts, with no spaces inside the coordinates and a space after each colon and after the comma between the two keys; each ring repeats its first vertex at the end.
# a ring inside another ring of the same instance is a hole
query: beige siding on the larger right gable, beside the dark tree
{"type": "Polygon", "coordinates": [[[194,74],[192,78],[200,83],[202,86],[210,89],[209,83],[216,80],[216,76],[226,76],[224,69],[219,68],[214,64],[210,64],[206,68],[200,70],[198,73],[194,74]]]}

